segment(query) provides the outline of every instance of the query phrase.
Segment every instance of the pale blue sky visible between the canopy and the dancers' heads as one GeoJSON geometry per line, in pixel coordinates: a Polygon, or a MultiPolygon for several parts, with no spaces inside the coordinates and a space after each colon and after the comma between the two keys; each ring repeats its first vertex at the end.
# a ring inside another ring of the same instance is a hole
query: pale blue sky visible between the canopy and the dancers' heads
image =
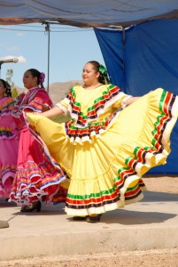
{"type": "Polygon", "coordinates": [[[3,63],[0,77],[6,79],[7,69],[12,69],[12,82],[20,88],[24,87],[22,77],[27,69],[43,71],[44,86],[47,86],[48,83],[81,80],[87,61],[104,64],[93,28],[59,24],[50,25],[50,36],[42,23],[0,25],[0,61],[12,58],[19,61],[3,63]]]}

